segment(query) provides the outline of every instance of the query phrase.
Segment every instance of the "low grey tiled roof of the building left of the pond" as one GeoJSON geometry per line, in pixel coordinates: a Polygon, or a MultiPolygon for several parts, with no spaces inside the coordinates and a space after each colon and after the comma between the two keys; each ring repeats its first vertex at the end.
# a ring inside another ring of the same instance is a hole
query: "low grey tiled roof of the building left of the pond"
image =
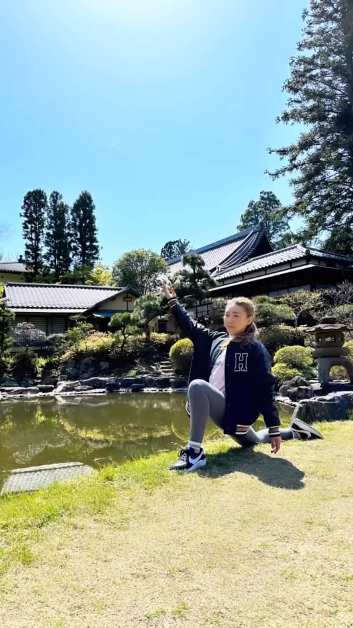
{"type": "Polygon", "coordinates": [[[8,298],[9,308],[85,311],[124,290],[114,286],[8,283],[4,286],[4,296],[8,298]]]}

